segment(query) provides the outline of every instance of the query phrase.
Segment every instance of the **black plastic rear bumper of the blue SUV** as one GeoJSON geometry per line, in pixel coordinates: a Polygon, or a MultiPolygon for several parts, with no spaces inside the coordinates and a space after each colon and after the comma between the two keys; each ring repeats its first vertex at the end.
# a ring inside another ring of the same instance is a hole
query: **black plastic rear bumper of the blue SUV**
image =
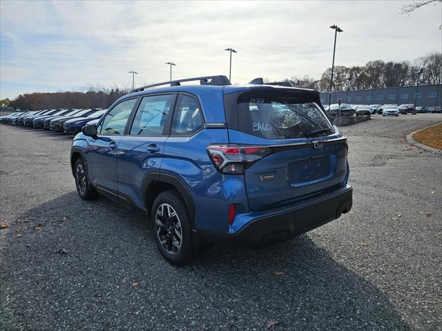
{"type": "Polygon", "coordinates": [[[305,233],[320,225],[338,219],[352,208],[353,188],[346,185],[308,201],[302,201],[284,210],[271,210],[252,219],[234,234],[220,234],[198,230],[203,241],[260,247],[271,245],[305,233]]]}

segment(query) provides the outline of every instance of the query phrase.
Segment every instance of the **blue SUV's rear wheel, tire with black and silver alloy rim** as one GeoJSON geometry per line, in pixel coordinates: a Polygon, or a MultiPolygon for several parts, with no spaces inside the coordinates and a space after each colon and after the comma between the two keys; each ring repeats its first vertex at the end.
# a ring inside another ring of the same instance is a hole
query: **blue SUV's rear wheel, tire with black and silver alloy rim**
{"type": "Polygon", "coordinates": [[[186,265],[195,259],[189,212],[177,191],[158,194],[153,203],[151,220],[155,243],[169,263],[186,265]]]}

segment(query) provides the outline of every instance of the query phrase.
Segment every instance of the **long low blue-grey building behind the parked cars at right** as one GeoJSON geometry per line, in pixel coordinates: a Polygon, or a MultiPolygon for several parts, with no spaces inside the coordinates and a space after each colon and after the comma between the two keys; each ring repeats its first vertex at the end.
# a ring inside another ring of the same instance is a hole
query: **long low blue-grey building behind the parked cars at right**
{"type": "MultiPolygon", "coordinates": [[[[331,103],[350,103],[361,105],[384,105],[385,103],[415,103],[414,106],[442,107],[442,85],[406,86],[403,88],[374,88],[371,90],[333,91],[331,103]],[[417,92],[416,92],[417,91],[417,92]]],[[[320,94],[323,105],[329,103],[329,93],[320,94]]]]}

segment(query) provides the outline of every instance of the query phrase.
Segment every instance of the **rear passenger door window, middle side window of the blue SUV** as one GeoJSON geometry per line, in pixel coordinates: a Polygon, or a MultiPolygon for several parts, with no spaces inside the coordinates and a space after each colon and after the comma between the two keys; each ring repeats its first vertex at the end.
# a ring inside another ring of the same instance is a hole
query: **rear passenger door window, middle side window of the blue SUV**
{"type": "Polygon", "coordinates": [[[133,120],[131,134],[161,136],[171,111],[173,94],[144,97],[133,120]]]}

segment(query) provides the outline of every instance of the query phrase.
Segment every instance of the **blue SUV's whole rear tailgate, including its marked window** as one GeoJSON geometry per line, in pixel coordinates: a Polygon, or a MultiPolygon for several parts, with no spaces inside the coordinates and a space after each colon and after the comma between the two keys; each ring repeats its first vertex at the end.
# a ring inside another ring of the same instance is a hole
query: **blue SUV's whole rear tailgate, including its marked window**
{"type": "Polygon", "coordinates": [[[298,89],[260,86],[225,95],[229,142],[267,151],[245,166],[251,210],[288,205],[345,182],[347,139],[318,105],[316,92],[298,89]]]}

